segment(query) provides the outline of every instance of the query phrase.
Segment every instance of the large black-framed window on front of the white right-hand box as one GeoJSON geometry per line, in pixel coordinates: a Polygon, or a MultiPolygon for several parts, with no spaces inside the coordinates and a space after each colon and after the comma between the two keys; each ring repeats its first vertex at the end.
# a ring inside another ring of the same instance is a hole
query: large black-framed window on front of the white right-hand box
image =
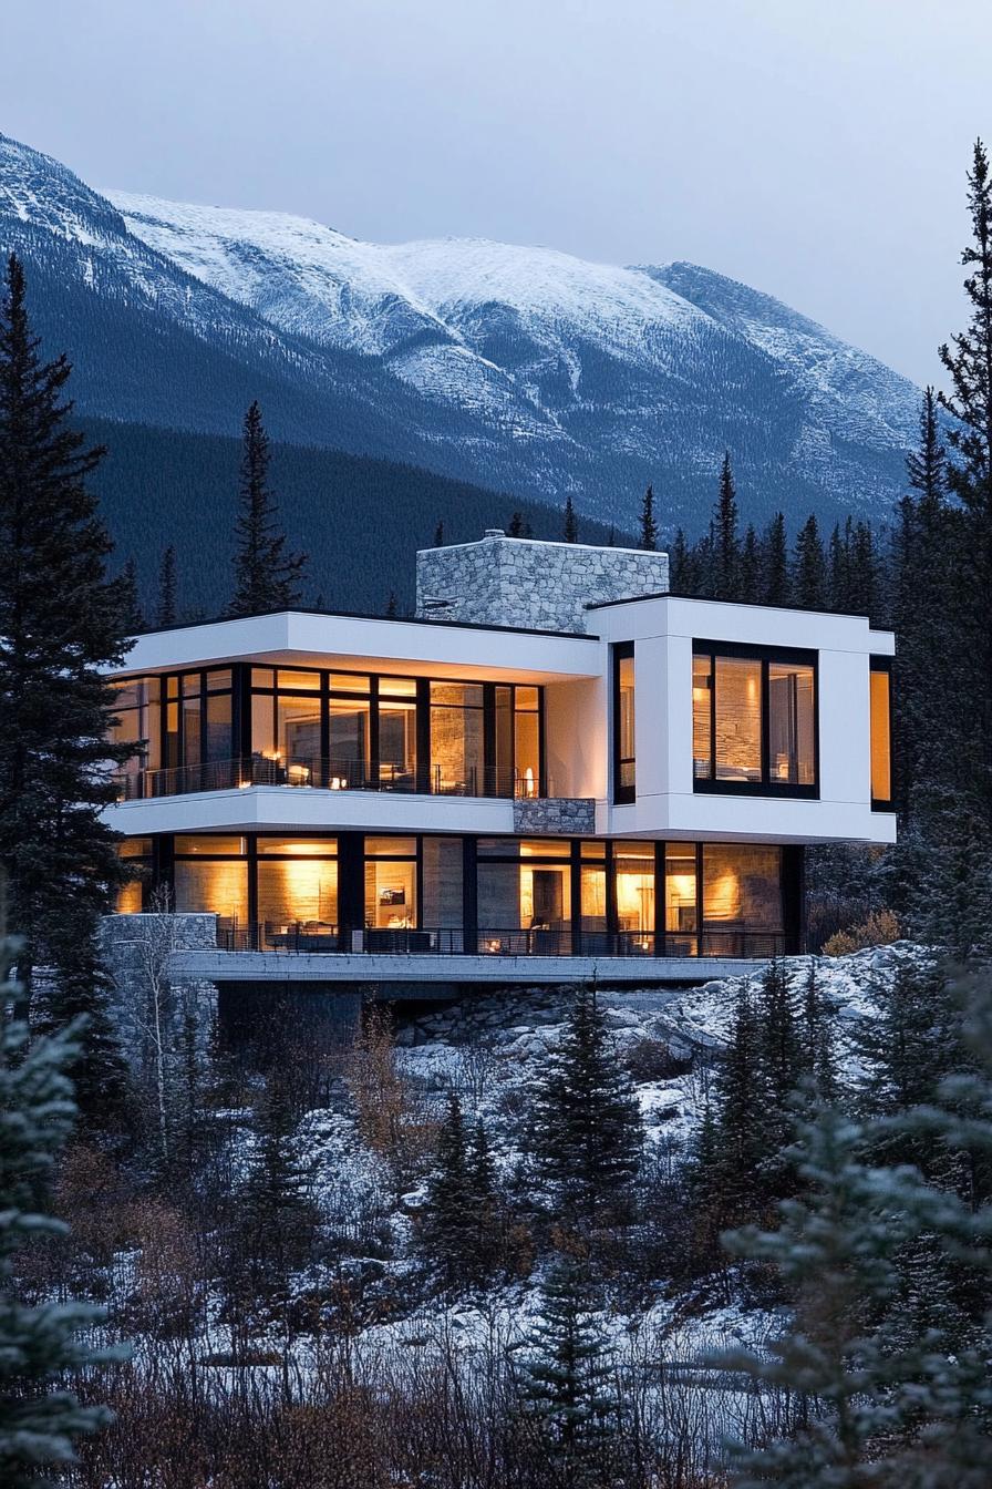
{"type": "Polygon", "coordinates": [[[695,642],[693,779],[698,791],[817,794],[817,661],[695,642]]]}

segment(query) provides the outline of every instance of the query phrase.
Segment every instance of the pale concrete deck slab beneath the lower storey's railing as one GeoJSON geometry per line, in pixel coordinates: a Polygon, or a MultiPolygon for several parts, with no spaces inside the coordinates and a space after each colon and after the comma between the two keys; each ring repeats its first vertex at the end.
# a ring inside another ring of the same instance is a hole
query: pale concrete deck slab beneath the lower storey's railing
{"type": "Polygon", "coordinates": [[[210,983],[550,983],[626,984],[708,983],[739,977],[760,959],[717,956],[376,956],[347,951],[173,951],[175,978],[210,983]]]}

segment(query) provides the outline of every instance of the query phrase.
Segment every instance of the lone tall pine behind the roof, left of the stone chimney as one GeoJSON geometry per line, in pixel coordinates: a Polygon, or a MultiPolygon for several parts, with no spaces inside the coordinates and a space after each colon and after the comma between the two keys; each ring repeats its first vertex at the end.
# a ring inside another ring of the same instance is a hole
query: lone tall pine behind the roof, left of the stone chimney
{"type": "Polygon", "coordinates": [[[300,575],[306,554],[286,549],[278,508],[269,487],[269,438],[257,402],[244,415],[241,457],[241,511],[235,524],[235,593],[228,615],[289,610],[300,603],[300,575]]]}

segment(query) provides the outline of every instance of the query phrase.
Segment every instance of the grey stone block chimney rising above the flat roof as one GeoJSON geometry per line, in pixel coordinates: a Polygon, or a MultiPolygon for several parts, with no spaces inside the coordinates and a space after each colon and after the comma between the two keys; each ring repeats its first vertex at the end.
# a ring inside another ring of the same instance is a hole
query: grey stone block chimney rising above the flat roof
{"type": "Polygon", "coordinates": [[[416,613],[428,619],[586,631],[586,606],[666,590],[668,554],[641,548],[534,542],[492,529],[477,543],[416,555],[416,613]]]}

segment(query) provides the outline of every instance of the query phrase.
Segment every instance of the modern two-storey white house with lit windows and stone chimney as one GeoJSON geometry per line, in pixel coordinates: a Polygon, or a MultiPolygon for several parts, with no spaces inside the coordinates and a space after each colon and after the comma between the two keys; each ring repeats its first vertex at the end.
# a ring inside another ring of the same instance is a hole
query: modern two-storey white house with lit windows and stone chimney
{"type": "Polygon", "coordinates": [[[803,948],[808,844],[894,841],[894,637],[864,616],[497,530],[416,582],[415,618],[178,625],[113,677],[119,908],[196,914],[207,975],[706,975],[803,948]]]}

